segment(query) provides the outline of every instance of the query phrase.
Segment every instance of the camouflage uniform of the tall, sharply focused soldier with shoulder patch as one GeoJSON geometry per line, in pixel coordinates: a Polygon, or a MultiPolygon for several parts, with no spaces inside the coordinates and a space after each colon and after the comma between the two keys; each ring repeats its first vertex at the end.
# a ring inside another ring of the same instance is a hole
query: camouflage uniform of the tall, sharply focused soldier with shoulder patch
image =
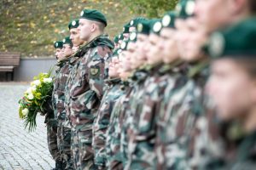
{"type": "Polygon", "coordinates": [[[74,67],[73,81],[69,88],[67,109],[79,150],[75,154],[75,164],[78,169],[95,169],[94,152],[92,149],[92,125],[96,111],[102,99],[102,88],[105,75],[105,59],[112,54],[113,43],[106,36],[96,37],[84,45],[84,56],[74,67]],[[79,160],[76,160],[79,158],[79,160]]]}

